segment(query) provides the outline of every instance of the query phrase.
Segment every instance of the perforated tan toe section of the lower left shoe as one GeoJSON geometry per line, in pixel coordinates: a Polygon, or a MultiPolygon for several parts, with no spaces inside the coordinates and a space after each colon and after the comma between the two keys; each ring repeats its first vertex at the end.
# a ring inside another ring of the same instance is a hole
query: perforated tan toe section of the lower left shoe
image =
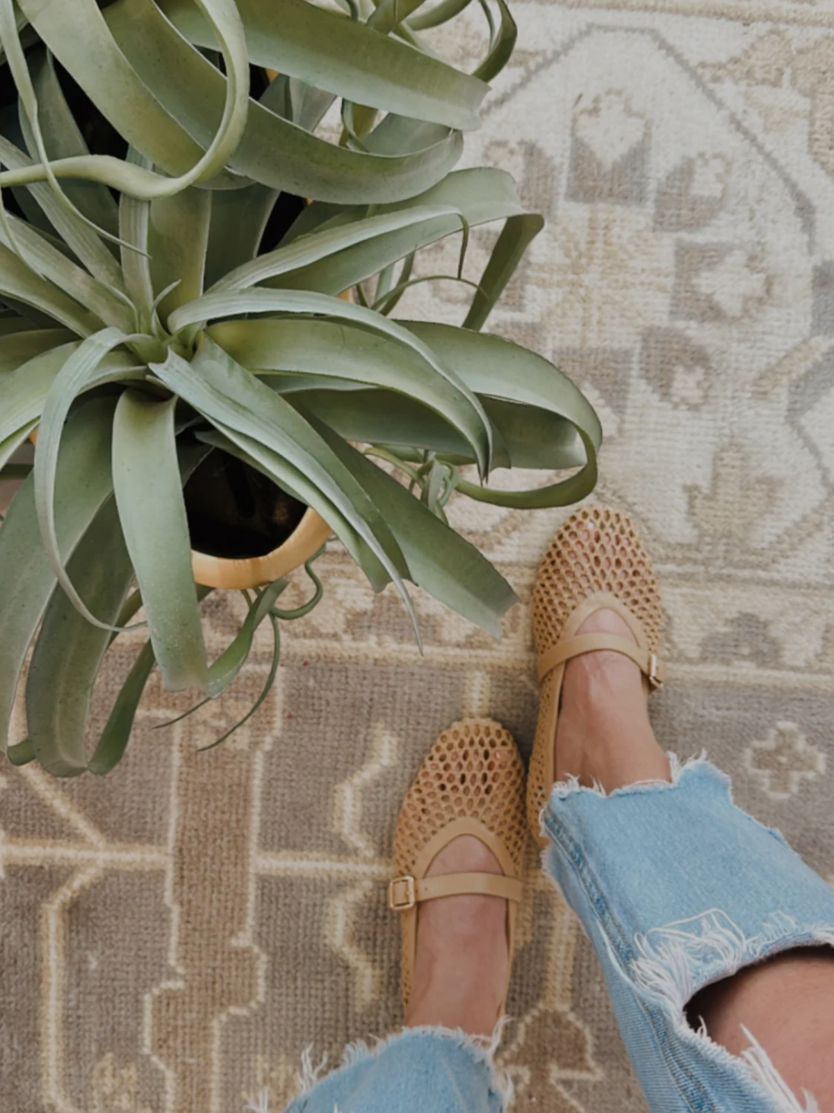
{"type": "Polygon", "coordinates": [[[413,873],[429,839],[455,819],[480,820],[520,873],[524,765],[513,736],[492,719],[455,722],[429,750],[403,801],[394,839],[397,871],[413,873]]]}

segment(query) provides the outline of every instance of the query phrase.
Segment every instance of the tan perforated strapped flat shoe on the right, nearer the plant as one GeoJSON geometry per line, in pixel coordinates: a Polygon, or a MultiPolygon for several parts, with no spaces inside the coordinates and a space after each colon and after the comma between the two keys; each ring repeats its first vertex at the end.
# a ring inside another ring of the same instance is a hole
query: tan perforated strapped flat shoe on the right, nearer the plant
{"type": "Polygon", "coordinates": [[[538,651],[542,701],[527,780],[527,821],[539,846],[539,816],[556,780],[556,721],[565,664],[572,657],[613,649],[635,661],[646,691],[663,684],[657,657],[663,604],[652,562],[625,514],[586,506],[572,514],[550,543],[533,592],[533,633],[538,651]],[[623,619],[636,644],[609,633],[577,634],[594,611],[623,619]]]}

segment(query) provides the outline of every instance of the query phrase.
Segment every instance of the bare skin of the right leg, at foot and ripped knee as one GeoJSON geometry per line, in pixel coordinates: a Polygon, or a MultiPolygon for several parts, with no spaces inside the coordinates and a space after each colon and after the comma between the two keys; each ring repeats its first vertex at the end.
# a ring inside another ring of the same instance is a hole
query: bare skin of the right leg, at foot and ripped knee
{"type": "MultiPolygon", "coordinates": [[[[597,630],[628,637],[610,611],[593,614],[580,632],[597,630]]],[[[641,780],[671,779],[669,762],[648,721],[639,670],[622,654],[603,651],[568,663],[556,771],[559,780],[573,775],[580,785],[596,782],[608,794],[641,780]]],[[[753,868],[763,865],[762,859],[751,861],[753,868]]],[[[816,1094],[821,1107],[834,1094],[831,947],[793,949],[746,966],[698,992],[686,1006],[686,1018],[694,1028],[703,1020],[708,1036],[733,1055],[751,1046],[746,1028],[795,1094],[816,1094]]]]}

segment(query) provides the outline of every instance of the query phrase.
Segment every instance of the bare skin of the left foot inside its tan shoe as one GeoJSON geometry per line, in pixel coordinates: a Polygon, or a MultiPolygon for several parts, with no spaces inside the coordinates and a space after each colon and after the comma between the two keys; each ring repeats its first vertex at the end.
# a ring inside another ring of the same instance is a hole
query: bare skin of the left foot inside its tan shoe
{"type": "MultiPolygon", "coordinates": [[[[437,855],[426,876],[458,873],[500,874],[502,869],[479,839],[464,835],[437,855]]],[[[465,894],[426,900],[418,907],[417,957],[406,1024],[492,1034],[509,976],[507,902],[465,894]]]]}

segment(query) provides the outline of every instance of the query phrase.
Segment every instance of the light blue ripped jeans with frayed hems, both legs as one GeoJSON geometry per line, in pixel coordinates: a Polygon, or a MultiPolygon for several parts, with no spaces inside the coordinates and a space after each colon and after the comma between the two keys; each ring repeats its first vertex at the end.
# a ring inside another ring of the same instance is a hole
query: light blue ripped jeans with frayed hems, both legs
{"type": "MultiPolygon", "coordinates": [[[[684,1008],[770,955],[834,945],[834,892],[735,807],[729,778],[703,759],[683,769],[669,759],[672,782],[609,797],[556,785],[545,867],[594,944],[654,1113],[801,1113],[753,1037],[731,1055],[684,1008]]],[[[353,1045],[287,1113],[502,1113],[510,1090],[493,1051],[459,1032],[405,1028],[373,1052],[353,1045]]]]}

